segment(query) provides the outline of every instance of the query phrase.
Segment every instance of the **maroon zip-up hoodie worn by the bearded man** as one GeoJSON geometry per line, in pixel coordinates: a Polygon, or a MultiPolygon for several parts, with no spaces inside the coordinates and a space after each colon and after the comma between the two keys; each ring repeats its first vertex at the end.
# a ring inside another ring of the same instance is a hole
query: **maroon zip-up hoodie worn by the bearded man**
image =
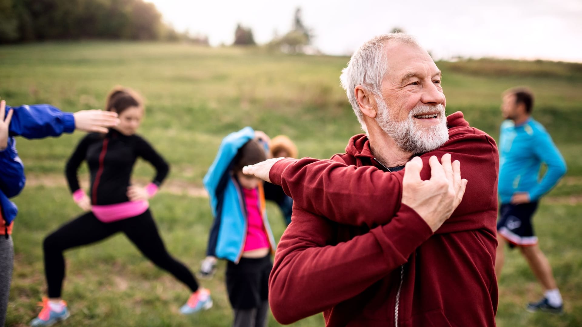
{"type": "Polygon", "coordinates": [[[269,177],[294,200],[269,278],[275,318],[290,324],[324,312],[326,326],[495,326],[495,141],[448,117],[450,153],[469,180],[436,233],[400,204],[404,172],[385,172],[363,135],[331,160],[283,159],[269,177]]]}

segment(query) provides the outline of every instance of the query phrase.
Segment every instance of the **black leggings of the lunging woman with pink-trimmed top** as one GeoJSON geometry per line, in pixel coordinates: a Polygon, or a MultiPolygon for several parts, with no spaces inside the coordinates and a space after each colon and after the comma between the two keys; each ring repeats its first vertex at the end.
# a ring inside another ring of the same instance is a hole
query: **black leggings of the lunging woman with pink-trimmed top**
{"type": "Polygon", "coordinates": [[[104,223],[93,212],[87,212],[61,226],[44,239],[44,271],[47,276],[48,297],[61,297],[63,278],[65,278],[65,258],[63,251],[95,243],[117,232],[123,232],[137,248],[159,268],[170,272],[192,292],[198,290],[194,275],[186,266],[172,258],[166,251],[164,241],[158,233],[148,209],[143,214],[116,222],[104,223]]]}

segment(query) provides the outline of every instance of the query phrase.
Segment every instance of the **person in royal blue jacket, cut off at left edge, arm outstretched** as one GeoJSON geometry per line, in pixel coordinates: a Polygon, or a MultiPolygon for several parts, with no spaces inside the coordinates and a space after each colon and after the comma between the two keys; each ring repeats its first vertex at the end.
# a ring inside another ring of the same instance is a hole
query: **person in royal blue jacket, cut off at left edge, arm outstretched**
{"type": "Polygon", "coordinates": [[[17,208],[9,198],[17,196],[26,182],[14,137],[60,136],[75,129],[107,133],[107,127],[117,125],[118,121],[114,112],[87,110],[70,113],[50,105],[12,108],[0,101],[0,326],[4,325],[6,318],[14,261],[10,234],[17,208]]]}

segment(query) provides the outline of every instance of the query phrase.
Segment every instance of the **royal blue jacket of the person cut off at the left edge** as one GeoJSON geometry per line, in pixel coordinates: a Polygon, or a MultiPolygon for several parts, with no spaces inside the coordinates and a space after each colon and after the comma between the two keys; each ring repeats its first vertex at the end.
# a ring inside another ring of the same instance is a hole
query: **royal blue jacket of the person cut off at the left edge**
{"type": "Polygon", "coordinates": [[[0,151],[0,206],[6,225],[12,223],[18,211],[8,198],[17,196],[26,182],[14,137],[43,138],[72,133],[74,130],[73,114],[62,112],[51,105],[6,106],[6,115],[10,109],[14,109],[14,113],[9,126],[8,147],[0,151]]]}

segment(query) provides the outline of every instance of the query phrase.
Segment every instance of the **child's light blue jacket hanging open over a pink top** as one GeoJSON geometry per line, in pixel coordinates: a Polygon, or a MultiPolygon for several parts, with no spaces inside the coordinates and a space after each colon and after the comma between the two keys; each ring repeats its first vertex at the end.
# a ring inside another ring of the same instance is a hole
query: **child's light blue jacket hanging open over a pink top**
{"type": "MultiPolygon", "coordinates": [[[[208,237],[207,255],[223,258],[237,264],[243,253],[244,241],[247,234],[246,209],[239,183],[231,175],[232,159],[237,151],[248,141],[254,138],[251,127],[230,133],[223,138],[217,157],[204,176],[204,187],[210,196],[210,207],[214,222],[208,237]]],[[[259,208],[264,208],[264,196],[260,196],[259,208]]],[[[271,251],[275,251],[275,239],[267,213],[262,212],[263,223],[271,244],[271,251]]]]}

